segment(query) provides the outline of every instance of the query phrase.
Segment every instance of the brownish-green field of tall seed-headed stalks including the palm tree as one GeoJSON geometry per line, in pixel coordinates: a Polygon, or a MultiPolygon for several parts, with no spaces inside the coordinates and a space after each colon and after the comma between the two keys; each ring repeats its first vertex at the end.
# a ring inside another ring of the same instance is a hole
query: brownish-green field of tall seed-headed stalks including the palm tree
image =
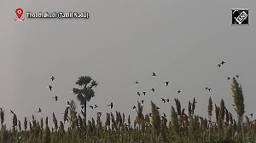
{"type": "MultiPolygon", "coordinates": [[[[93,87],[97,83],[90,77],[79,77],[77,82],[81,89],[74,89],[73,93],[81,105],[94,96],[93,87]],[[90,83],[90,85],[89,85],[90,83]]],[[[195,98],[189,101],[188,112],[175,99],[176,107],[171,106],[171,117],[160,117],[159,108],[151,101],[151,113],[143,114],[143,106],[137,103],[137,117],[131,125],[130,115],[121,112],[107,113],[105,124],[102,123],[101,115],[91,118],[84,123],[84,118],[76,112],[73,100],[67,106],[62,121],[57,121],[53,113],[52,121],[54,128],[50,129],[48,117],[40,120],[32,116],[32,122],[24,118],[23,130],[20,120],[14,114],[12,129],[7,130],[4,124],[4,111],[1,109],[0,142],[44,142],[44,143],[72,143],[72,142],[173,142],[173,143],[232,143],[232,142],[255,142],[256,120],[243,123],[245,106],[241,86],[233,78],[231,92],[234,98],[234,106],[237,113],[237,121],[225,108],[224,100],[220,104],[212,106],[212,98],[208,100],[206,112],[208,117],[195,115],[195,98]],[[212,110],[215,111],[216,119],[212,121],[212,110]],[[167,118],[170,118],[168,120],[167,118]],[[65,128],[66,126],[66,128],[65,128]]],[[[84,107],[85,108],[85,107],[84,107]]],[[[21,122],[22,123],[22,122],[21,122]]]]}

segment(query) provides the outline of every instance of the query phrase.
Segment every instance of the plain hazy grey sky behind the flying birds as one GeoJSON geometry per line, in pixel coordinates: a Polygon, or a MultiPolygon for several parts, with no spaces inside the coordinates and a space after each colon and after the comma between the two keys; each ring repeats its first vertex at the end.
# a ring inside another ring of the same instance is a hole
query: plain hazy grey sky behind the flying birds
{"type": "MultiPolygon", "coordinates": [[[[207,117],[207,101],[233,99],[226,77],[240,75],[246,113],[255,111],[256,2],[247,1],[5,1],[0,5],[0,107],[10,125],[12,109],[21,123],[52,112],[63,118],[67,100],[79,102],[71,92],[79,76],[98,83],[88,119],[96,112],[125,112],[137,100],[150,100],[170,117],[174,98],[187,112],[189,100],[197,100],[195,113],[207,117]],[[17,22],[15,10],[26,12],[89,12],[87,19],[27,19],[17,22]],[[249,26],[231,26],[231,9],[250,9],[249,26]],[[226,61],[222,68],[217,64],[226,61]],[[152,72],[158,74],[152,77],[152,72]],[[51,82],[50,77],[55,76],[51,82]],[[134,82],[138,81],[139,84],[134,82]],[[168,87],[165,81],[170,81],[168,87]],[[47,86],[51,84],[53,91],[47,86]],[[203,90],[206,86],[211,92],[203,90]],[[154,88],[154,93],[149,89],[154,88]],[[176,90],[182,93],[177,94],[176,90]],[[137,91],[147,91],[137,96],[137,91]],[[54,95],[59,96],[55,102],[54,95]],[[160,97],[170,98],[162,104],[160,97]],[[113,110],[108,103],[113,101],[113,110]],[[42,113],[34,113],[38,108],[42,113]]],[[[214,112],[214,111],[213,111],[214,112]]],[[[256,113],[256,112],[255,112],[256,113]]],[[[9,126],[10,127],[10,126],[9,126]]]]}

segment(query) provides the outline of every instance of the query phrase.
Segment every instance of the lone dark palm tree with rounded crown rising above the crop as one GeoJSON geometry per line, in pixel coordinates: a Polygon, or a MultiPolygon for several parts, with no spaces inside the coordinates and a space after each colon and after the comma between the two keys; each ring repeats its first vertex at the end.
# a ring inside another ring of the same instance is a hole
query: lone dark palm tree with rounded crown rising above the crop
{"type": "Polygon", "coordinates": [[[98,85],[95,80],[89,76],[81,76],[76,82],[80,89],[73,88],[73,94],[77,95],[80,105],[84,106],[84,123],[86,123],[86,104],[95,96],[94,87],[98,85]]]}

